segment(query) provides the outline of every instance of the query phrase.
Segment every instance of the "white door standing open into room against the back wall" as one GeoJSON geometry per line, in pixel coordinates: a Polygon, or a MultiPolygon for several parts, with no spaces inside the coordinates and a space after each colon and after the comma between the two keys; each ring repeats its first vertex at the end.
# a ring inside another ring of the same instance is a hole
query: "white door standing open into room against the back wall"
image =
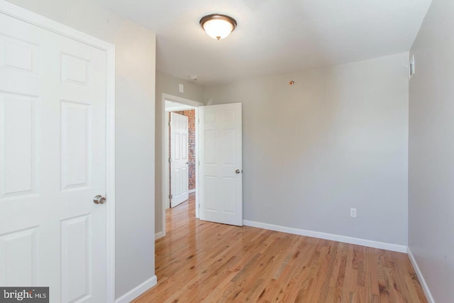
{"type": "Polygon", "coordinates": [[[241,104],[199,107],[200,219],[243,226],[241,104]]]}

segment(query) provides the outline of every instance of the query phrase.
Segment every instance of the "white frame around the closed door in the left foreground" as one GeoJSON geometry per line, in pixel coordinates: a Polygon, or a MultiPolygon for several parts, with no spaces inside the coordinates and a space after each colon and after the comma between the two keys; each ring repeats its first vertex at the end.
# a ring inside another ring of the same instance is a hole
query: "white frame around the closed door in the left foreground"
{"type": "Polygon", "coordinates": [[[0,13],[106,53],[106,302],[115,302],[115,46],[4,0],[0,13]]]}

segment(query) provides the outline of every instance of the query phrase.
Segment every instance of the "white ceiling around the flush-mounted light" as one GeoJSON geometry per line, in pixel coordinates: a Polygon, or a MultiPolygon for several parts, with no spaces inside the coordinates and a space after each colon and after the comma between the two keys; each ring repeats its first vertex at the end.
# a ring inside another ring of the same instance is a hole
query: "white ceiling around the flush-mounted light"
{"type": "Polygon", "coordinates": [[[431,0],[95,0],[157,34],[157,69],[198,84],[277,75],[409,51],[431,0]],[[226,39],[199,26],[238,21],[226,39]]]}

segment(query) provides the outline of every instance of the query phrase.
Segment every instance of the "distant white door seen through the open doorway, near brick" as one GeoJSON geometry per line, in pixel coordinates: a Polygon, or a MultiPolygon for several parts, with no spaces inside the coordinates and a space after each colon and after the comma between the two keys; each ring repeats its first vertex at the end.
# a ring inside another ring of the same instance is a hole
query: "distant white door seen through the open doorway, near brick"
{"type": "Polygon", "coordinates": [[[170,113],[170,207],[189,199],[187,116],[170,113]]]}

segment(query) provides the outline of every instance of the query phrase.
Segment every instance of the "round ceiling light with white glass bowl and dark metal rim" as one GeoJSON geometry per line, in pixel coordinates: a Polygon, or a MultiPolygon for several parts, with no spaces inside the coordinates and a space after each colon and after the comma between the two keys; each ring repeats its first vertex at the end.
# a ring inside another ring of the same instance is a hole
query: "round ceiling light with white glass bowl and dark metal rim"
{"type": "Polygon", "coordinates": [[[211,37],[221,40],[236,28],[236,20],[221,13],[211,13],[200,19],[200,26],[211,37]]]}

